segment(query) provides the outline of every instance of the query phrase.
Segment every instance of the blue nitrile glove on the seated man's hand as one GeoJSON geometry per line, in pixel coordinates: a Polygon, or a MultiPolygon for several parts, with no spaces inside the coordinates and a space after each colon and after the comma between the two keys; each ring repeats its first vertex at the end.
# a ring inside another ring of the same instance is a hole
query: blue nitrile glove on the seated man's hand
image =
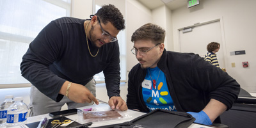
{"type": "Polygon", "coordinates": [[[190,111],[187,113],[189,113],[194,118],[196,118],[195,123],[212,125],[212,122],[211,122],[209,116],[203,110],[200,111],[199,113],[194,113],[194,112],[190,112],[190,111]]]}

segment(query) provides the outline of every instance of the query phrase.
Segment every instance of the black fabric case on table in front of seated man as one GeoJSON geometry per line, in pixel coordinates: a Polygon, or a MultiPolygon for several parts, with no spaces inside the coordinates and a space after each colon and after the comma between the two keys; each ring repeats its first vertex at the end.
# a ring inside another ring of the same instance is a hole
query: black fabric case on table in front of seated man
{"type": "Polygon", "coordinates": [[[195,118],[185,112],[168,111],[164,109],[155,109],[150,113],[134,118],[130,122],[124,122],[121,124],[100,126],[103,128],[131,128],[134,126],[140,126],[145,128],[183,128],[189,127],[193,124],[195,118]]]}

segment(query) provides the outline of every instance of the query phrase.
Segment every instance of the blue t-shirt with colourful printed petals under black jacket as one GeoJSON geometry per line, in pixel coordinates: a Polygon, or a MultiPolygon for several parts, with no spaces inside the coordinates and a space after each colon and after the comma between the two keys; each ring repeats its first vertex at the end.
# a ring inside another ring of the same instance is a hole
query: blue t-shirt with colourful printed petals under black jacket
{"type": "Polygon", "coordinates": [[[177,111],[168,90],[164,72],[158,67],[147,68],[147,75],[141,86],[143,100],[150,111],[157,108],[177,111]]]}

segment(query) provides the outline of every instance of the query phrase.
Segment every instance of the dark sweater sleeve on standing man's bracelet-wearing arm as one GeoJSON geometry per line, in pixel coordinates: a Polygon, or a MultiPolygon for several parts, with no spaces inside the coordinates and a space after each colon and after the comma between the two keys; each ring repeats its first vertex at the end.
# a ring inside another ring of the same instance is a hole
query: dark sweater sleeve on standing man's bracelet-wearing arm
{"type": "Polygon", "coordinates": [[[31,42],[20,64],[22,76],[55,101],[60,101],[63,97],[59,92],[65,79],[53,74],[49,65],[61,54],[61,36],[58,26],[54,21],[50,22],[31,42]]]}

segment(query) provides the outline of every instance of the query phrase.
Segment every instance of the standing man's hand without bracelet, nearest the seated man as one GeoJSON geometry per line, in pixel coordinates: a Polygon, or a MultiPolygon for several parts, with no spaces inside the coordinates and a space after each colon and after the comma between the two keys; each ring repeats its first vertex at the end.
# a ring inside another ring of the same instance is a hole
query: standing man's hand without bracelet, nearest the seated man
{"type": "Polygon", "coordinates": [[[127,110],[127,105],[121,97],[113,96],[108,100],[111,109],[120,109],[121,111],[127,110]]]}

